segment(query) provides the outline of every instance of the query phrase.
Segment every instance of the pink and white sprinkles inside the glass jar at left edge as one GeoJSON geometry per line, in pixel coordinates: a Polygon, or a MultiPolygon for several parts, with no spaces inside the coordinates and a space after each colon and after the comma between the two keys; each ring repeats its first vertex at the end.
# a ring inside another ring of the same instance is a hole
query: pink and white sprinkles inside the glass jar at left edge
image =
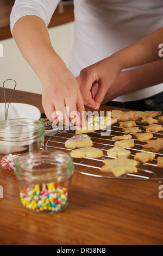
{"type": "Polygon", "coordinates": [[[2,160],[1,160],[1,166],[4,169],[9,170],[10,172],[14,172],[14,168],[15,168],[15,160],[17,159],[17,157],[20,155],[8,155],[8,156],[3,156],[2,160]]]}

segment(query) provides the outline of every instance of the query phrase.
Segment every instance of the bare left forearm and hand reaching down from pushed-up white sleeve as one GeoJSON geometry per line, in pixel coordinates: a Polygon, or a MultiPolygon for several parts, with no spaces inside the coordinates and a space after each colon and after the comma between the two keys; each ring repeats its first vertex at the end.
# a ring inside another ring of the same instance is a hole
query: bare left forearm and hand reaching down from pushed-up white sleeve
{"type": "Polygon", "coordinates": [[[69,125],[72,119],[65,107],[70,108],[70,113],[78,111],[82,118],[84,105],[78,84],[54,51],[45,21],[39,15],[25,15],[15,23],[12,33],[24,58],[41,80],[42,105],[49,120],[57,119],[53,113],[61,111],[64,123],[69,125]]]}

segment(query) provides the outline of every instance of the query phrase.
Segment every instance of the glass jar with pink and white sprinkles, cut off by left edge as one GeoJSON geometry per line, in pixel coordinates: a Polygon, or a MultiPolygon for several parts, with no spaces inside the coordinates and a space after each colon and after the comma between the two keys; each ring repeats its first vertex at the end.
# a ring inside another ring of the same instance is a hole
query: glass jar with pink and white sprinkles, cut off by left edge
{"type": "Polygon", "coordinates": [[[23,153],[43,150],[45,127],[33,119],[0,122],[0,168],[14,172],[15,160],[23,153]]]}

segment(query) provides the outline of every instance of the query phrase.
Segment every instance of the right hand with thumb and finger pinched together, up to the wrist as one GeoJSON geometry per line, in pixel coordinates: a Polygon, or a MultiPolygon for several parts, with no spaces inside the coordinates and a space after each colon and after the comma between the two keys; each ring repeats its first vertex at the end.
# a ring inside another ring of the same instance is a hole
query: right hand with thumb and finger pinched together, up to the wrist
{"type": "Polygon", "coordinates": [[[121,70],[122,65],[115,54],[83,69],[77,81],[85,105],[99,109],[106,92],[121,70]]]}

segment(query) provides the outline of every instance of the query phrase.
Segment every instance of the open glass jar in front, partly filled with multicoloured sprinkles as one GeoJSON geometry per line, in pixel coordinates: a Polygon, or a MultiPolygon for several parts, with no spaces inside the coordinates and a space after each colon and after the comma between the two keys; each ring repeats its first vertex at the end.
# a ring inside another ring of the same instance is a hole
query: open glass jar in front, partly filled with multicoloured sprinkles
{"type": "Polygon", "coordinates": [[[69,202],[72,157],[62,151],[23,154],[15,162],[20,202],[35,214],[55,214],[69,202]]]}

